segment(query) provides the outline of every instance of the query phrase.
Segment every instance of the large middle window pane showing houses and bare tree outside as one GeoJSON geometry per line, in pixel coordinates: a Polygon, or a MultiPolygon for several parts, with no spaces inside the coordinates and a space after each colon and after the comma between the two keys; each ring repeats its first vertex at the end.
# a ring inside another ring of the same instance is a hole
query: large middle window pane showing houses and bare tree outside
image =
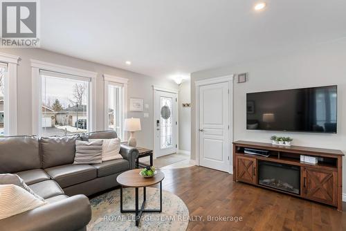
{"type": "Polygon", "coordinates": [[[42,136],[88,131],[89,81],[42,75],[42,136]]]}

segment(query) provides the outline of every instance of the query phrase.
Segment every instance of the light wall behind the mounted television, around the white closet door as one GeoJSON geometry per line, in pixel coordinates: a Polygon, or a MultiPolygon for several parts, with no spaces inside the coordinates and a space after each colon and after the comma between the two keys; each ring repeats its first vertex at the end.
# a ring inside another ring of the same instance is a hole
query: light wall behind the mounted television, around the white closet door
{"type": "MultiPolygon", "coordinates": [[[[194,82],[233,73],[248,73],[248,82],[234,84],[234,140],[270,142],[273,134],[291,136],[293,145],[340,149],[346,154],[346,39],[304,48],[299,52],[275,55],[253,62],[226,66],[191,75],[192,158],[195,158],[194,82]],[[246,93],[338,85],[338,133],[291,133],[246,130],[246,93]]],[[[346,159],[343,159],[346,165],[346,159]]],[[[346,185],[346,168],[343,185],[346,185]]],[[[346,187],[343,188],[346,193],[346,187]]]]}

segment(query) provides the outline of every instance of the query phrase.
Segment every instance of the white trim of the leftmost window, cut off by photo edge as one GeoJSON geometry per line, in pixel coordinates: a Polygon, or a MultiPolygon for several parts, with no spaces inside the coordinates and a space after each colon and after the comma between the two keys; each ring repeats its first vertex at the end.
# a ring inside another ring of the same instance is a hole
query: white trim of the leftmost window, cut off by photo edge
{"type": "Polygon", "coordinates": [[[3,111],[6,113],[4,118],[5,134],[15,136],[18,134],[17,117],[17,65],[19,56],[0,53],[0,62],[8,64],[6,76],[6,100],[3,103],[3,111]],[[10,112],[10,115],[8,113],[10,112]]]}

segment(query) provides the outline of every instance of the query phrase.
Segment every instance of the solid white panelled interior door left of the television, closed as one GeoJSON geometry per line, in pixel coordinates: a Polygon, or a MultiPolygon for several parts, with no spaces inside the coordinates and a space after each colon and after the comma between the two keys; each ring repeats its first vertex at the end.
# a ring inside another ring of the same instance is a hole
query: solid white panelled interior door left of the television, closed
{"type": "Polygon", "coordinates": [[[229,84],[199,86],[199,164],[228,172],[230,156],[229,84]]]}

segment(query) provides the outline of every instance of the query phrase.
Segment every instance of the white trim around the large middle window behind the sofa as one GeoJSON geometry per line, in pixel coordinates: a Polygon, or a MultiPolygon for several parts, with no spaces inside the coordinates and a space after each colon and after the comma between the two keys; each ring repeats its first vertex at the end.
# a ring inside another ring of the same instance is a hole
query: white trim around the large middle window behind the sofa
{"type": "Polygon", "coordinates": [[[89,88],[89,109],[88,114],[91,120],[88,122],[89,131],[96,130],[96,77],[98,73],[92,71],[85,71],[78,68],[69,66],[62,66],[57,64],[51,64],[48,62],[42,62],[35,59],[30,59],[32,70],[32,83],[33,83],[33,127],[32,133],[41,135],[41,104],[42,104],[42,80],[39,74],[40,70],[53,71],[57,73],[63,73],[67,75],[77,75],[80,77],[89,77],[91,79],[89,88]]]}

